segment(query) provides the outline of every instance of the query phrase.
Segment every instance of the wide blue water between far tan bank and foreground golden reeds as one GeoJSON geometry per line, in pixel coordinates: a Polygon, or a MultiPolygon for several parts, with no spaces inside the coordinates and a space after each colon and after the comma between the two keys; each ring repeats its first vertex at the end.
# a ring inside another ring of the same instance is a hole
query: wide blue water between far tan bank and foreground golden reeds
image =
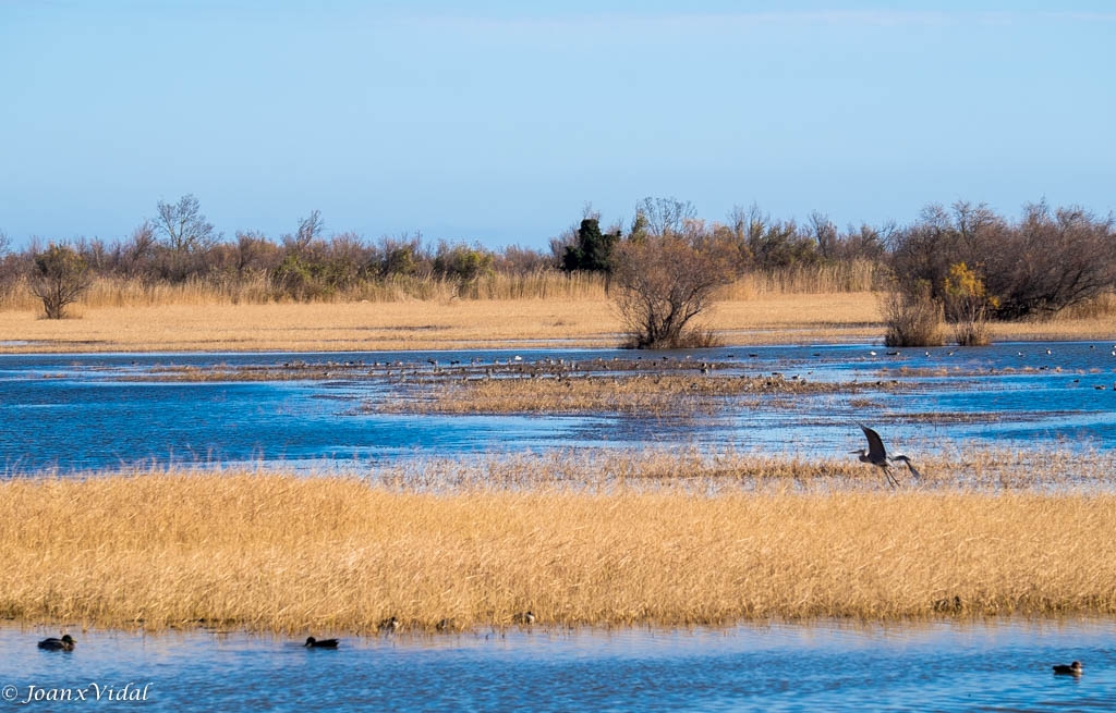
{"type": "MultiPolygon", "coordinates": [[[[860,448],[857,421],[886,428],[901,448],[942,443],[1110,449],[1116,446],[1112,344],[998,344],[903,350],[865,344],[680,352],[750,375],[856,380],[854,394],[770,398],[758,408],[677,418],[618,416],[401,416],[363,412],[392,395],[384,380],[153,383],[153,367],[403,361],[469,363],[638,359],[612,350],[367,352],[348,354],[0,355],[0,472],[70,472],[145,463],[258,462],[318,468],[411,455],[452,456],[568,446],[731,446],[838,455],[860,448]],[[1091,346],[1091,348],[1090,348],[1091,346]],[[1051,354],[1046,351],[1050,350],[1051,354]],[[876,353],[873,354],[872,352],[876,353]],[[1022,353],[1020,353],[1022,352],[1022,353]],[[930,370],[930,371],[927,371],[930,370]],[[945,375],[941,375],[944,370],[945,375]],[[121,379],[135,378],[135,381],[121,379]],[[898,380],[901,391],[873,389],[898,380]],[[1104,390],[1097,387],[1105,387],[1104,390]]],[[[656,353],[647,359],[657,359],[656,353]]]]}

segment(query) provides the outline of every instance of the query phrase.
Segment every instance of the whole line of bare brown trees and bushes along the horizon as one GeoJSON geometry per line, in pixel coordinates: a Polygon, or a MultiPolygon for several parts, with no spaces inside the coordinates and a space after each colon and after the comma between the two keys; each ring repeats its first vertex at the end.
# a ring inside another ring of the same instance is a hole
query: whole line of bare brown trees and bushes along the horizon
{"type": "Polygon", "coordinates": [[[470,285],[487,275],[591,272],[607,276],[633,344],[677,345],[713,291],[739,275],[854,262],[893,276],[878,287],[894,295],[898,310],[921,301],[927,315],[941,312],[951,322],[1054,314],[1116,291],[1114,226],[1112,214],[1079,207],[1037,203],[1012,219],[965,202],[930,205],[907,225],[843,229],[821,213],[798,223],[756,205],[710,222],[689,202],[648,197],[627,225],[603,226],[587,206],[547,252],[431,245],[420,234],[371,241],[327,233],[318,211],[278,238],[252,231],[227,238],[186,195],[158,202],[155,215],[121,240],[35,240],[12,251],[0,233],[0,292],[29,285],[48,314],[59,316],[65,304],[52,310],[42,295],[52,291],[61,295],[54,302],[69,303],[97,277],[143,285],[253,281],[267,285],[267,299],[311,301],[392,280],[445,281],[469,296],[470,285]],[[73,285],[64,284],[66,275],[73,285]]]}

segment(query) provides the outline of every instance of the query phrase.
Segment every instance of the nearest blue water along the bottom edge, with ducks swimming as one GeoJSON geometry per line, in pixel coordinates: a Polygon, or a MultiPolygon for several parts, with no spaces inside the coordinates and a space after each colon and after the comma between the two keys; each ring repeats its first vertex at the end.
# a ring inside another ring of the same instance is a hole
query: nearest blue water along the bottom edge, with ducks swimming
{"type": "Polygon", "coordinates": [[[76,651],[60,653],[36,648],[45,635],[57,632],[0,628],[0,692],[12,699],[0,709],[74,710],[21,703],[31,686],[92,697],[92,684],[146,690],[143,709],[156,711],[1116,707],[1112,622],[511,629],[343,638],[337,651],[308,651],[296,637],[77,632],[76,651]],[[1084,663],[1083,676],[1054,674],[1051,664],[1070,660],[1084,663]]]}

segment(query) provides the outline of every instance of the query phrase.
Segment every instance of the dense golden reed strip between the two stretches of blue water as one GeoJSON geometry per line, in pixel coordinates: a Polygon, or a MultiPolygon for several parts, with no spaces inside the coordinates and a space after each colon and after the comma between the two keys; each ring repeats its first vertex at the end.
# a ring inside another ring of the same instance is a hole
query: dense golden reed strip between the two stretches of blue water
{"type": "MultiPolygon", "coordinates": [[[[652,480],[627,458],[614,466],[644,477],[607,487],[509,487],[529,459],[441,491],[248,472],[10,479],[0,616],[372,634],[389,616],[433,629],[527,609],[541,625],[1116,613],[1112,492],[747,492],[652,480]]],[[[680,475],[702,475],[687,458],[680,475]]]]}

